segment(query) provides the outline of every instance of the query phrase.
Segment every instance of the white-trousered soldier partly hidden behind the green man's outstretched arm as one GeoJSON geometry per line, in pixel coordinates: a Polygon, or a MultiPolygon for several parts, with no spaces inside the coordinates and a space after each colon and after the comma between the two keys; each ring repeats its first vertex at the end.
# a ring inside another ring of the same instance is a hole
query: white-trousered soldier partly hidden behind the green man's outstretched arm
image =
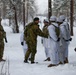
{"type": "MultiPolygon", "coordinates": [[[[47,29],[48,25],[49,25],[48,19],[44,19],[44,26],[43,26],[42,31],[45,34],[48,34],[48,29],[47,29]]],[[[46,57],[47,57],[47,59],[45,59],[44,61],[50,61],[49,49],[48,49],[48,38],[43,37],[41,41],[42,41],[42,44],[43,44],[43,46],[45,48],[45,54],[46,54],[46,57]]]]}

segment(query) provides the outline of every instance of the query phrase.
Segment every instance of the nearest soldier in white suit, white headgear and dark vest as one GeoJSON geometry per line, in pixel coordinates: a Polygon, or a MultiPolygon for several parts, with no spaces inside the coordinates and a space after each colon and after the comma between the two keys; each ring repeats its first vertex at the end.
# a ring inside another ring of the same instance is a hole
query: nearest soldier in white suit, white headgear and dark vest
{"type": "Polygon", "coordinates": [[[60,29],[58,24],[56,23],[56,16],[51,16],[50,21],[51,25],[48,27],[48,32],[49,32],[49,42],[48,42],[48,47],[50,51],[50,59],[51,59],[51,64],[48,65],[48,67],[52,66],[57,66],[59,64],[59,55],[58,55],[58,50],[59,50],[59,35],[60,35],[60,29]]]}

